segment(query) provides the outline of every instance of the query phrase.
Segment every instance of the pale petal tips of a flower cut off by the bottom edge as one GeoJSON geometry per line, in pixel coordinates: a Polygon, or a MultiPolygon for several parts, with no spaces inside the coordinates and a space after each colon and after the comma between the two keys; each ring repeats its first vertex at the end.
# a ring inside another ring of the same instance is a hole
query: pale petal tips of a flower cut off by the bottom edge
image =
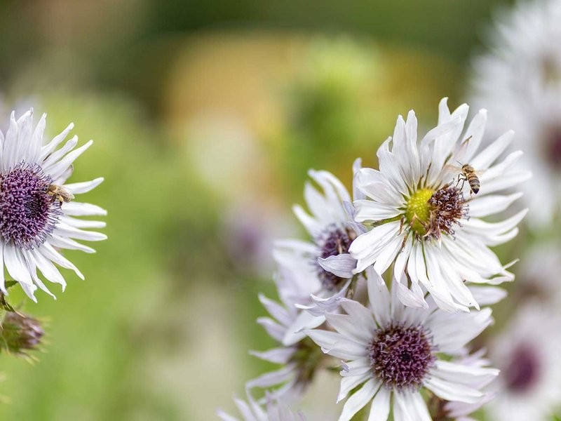
{"type": "MultiPolygon", "coordinates": [[[[242,421],[305,421],[306,418],[301,413],[294,413],[290,407],[276,398],[266,397],[266,406],[263,408],[248,393],[248,401],[234,398],[234,403],[238,407],[242,416],[242,421]]],[[[218,410],[217,415],[224,421],[239,421],[223,410],[218,410]]]]}

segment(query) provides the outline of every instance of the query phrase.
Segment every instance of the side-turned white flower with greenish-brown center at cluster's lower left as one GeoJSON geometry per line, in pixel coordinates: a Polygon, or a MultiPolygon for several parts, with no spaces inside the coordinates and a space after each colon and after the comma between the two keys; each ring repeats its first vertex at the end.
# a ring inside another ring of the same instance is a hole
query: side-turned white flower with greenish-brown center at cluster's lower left
{"type": "Polygon", "coordinates": [[[278,387],[271,392],[274,396],[283,396],[284,399],[295,400],[302,396],[309,386],[318,369],[323,366],[325,357],[320,348],[301,333],[305,326],[318,326],[325,321],[324,316],[312,316],[308,312],[295,307],[292,301],[290,283],[283,278],[280,272],[275,279],[278,295],[283,304],[279,304],[264,295],[259,295],[259,301],[269,312],[271,317],[260,317],[257,323],[265,328],[267,333],[279,343],[279,347],[269,349],[265,352],[250,352],[252,355],[271,363],[282,364],[283,367],[264,373],[250,380],[245,387],[278,387]],[[302,327],[298,327],[302,325],[302,327]],[[294,329],[298,329],[297,332],[294,329]],[[289,336],[298,338],[290,345],[283,345],[283,340],[289,336]]]}

